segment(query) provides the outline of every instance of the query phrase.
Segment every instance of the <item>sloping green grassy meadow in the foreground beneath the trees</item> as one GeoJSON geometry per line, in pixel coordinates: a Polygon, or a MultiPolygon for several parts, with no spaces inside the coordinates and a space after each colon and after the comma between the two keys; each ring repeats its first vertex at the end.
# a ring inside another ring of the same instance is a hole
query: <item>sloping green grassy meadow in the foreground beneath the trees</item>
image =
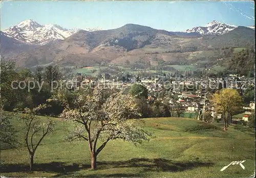
{"type": "MultiPolygon", "coordinates": [[[[45,119],[42,117],[41,119],[45,119]]],[[[248,177],[255,170],[254,130],[238,130],[223,123],[205,124],[188,118],[147,118],[145,129],[154,138],[141,145],[117,140],[98,155],[98,169],[90,170],[88,143],[65,141],[71,123],[56,119],[35,154],[36,171],[28,172],[24,148],[1,150],[1,175],[12,177],[248,177]],[[243,170],[232,161],[246,160],[243,170]]],[[[12,120],[23,138],[23,126],[12,120]]]]}

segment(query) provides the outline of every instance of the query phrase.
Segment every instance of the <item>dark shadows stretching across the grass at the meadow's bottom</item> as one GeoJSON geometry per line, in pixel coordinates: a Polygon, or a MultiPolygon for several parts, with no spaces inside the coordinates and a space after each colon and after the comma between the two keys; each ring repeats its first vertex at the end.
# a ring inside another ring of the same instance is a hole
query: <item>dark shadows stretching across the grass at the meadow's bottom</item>
{"type": "MultiPolygon", "coordinates": [[[[97,169],[109,169],[109,168],[142,168],[142,172],[144,171],[169,171],[169,172],[176,172],[176,171],[184,171],[187,169],[193,169],[196,167],[203,167],[203,166],[212,166],[213,163],[210,162],[174,162],[171,160],[166,159],[147,159],[147,158],[133,158],[127,161],[99,161],[97,163],[97,169]]],[[[60,175],[67,175],[72,174],[81,169],[89,169],[90,165],[66,165],[63,162],[51,162],[46,164],[35,164],[34,171],[46,171],[46,172],[56,172],[56,177],[60,175]]],[[[25,172],[29,171],[29,165],[16,165],[16,164],[9,164],[9,165],[1,165],[1,172],[25,172]]],[[[83,175],[86,176],[103,176],[103,177],[129,177],[129,176],[140,176],[139,173],[137,174],[127,174],[127,173],[114,173],[114,174],[90,174],[90,175],[83,175]]],[[[75,177],[75,173],[74,173],[75,177]]]]}

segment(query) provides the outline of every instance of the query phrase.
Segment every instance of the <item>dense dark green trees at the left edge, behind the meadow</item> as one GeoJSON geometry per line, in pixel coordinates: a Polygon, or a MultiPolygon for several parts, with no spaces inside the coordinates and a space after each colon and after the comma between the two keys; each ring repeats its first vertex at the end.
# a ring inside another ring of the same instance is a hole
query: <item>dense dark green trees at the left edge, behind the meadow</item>
{"type": "MultiPolygon", "coordinates": [[[[26,107],[34,108],[39,104],[45,103],[52,95],[51,83],[59,81],[61,73],[57,66],[37,67],[34,70],[17,69],[13,61],[1,61],[1,99],[2,106],[6,111],[12,111],[14,108],[24,110],[26,107]],[[17,81],[15,83],[12,82],[17,81]],[[18,87],[18,82],[20,87],[18,87]],[[28,90],[29,82],[35,82],[34,88],[28,90]],[[44,81],[44,84],[41,83],[44,81]],[[42,86],[39,91],[39,86],[42,86]],[[14,89],[16,88],[16,89],[14,89]]],[[[54,106],[52,111],[59,110],[54,106]]],[[[50,113],[49,113],[50,114],[50,113]]],[[[52,112],[52,114],[55,114],[52,112]]],[[[56,113],[57,114],[57,113],[56,113]]]]}

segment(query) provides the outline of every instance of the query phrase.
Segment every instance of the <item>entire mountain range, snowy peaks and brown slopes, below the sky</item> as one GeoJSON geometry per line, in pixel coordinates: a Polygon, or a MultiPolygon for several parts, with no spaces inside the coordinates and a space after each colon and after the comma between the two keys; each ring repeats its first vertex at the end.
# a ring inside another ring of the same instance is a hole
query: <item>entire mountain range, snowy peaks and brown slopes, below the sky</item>
{"type": "Polygon", "coordinates": [[[1,53],[7,59],[15,59],[20,67],[50,63],[79,67],[204,65],[207,61],[217,61],[221,48],[246,46],[254,46],[251,27],[234,27],[218,21],[185,32],[168,32],[138,24],[90,32],[67,30],[57,25],[41,26],[26,20],[1,32],[1,53]]]}

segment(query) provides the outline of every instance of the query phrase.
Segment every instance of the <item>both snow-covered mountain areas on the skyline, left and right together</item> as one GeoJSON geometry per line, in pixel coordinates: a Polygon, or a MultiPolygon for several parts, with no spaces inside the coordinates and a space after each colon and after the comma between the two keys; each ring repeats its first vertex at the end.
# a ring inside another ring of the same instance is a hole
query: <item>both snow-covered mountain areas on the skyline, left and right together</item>
{"type": "MultiPolygon", "coordinates": [[[[169,33],[173,33],[184,37],[199,37],[201,35],[209,34],[224,34],[235,28],[237,27],[214,20],[207,23],[204,27],[194,27],[184,32],[169,33]]],[[[254,29],[254,26],[249,26],[248,28],[254,29]]],[[[6,33],[8,37],[14,38],[20,42],[33,45],[44,45],[49,42],[64,40],[67,37],[78,32],[79,30],[94,32],[103,29],[100,27],[86,29],[66,29],[61,26],[58,26],[57,24],[46,24],[43,26],[34,20],[28,19],[4,30],[3,32],[6,33]]]]}

